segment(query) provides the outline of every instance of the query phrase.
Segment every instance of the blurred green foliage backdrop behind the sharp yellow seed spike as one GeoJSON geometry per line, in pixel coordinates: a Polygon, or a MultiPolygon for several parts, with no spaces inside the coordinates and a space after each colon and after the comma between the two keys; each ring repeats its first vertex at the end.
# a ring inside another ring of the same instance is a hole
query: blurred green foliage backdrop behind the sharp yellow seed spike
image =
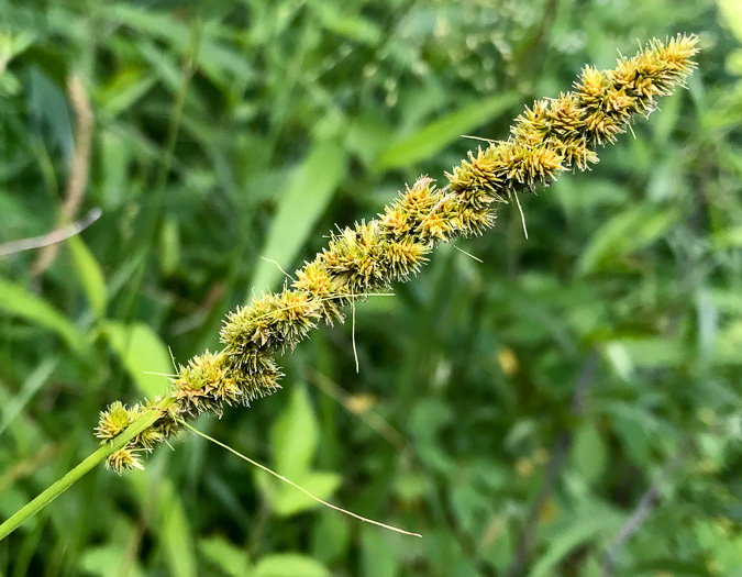
{"type": "Polygon", "coordinates": [[[85,477],[0,543],[0,574],[742,575],[734,0],[1,2],[0,244],[102,217],[56,257],[0,258],[0,518],[95,450],[106,404],[162,391],[167,347],[213,351],[280,285],[261,256],[291,269],[442,178],[462,134],[506,137],[585,63],[678,32],[701,37],[689,90],[521,199],[528,241],[500,210],[457,243],[483,264],[442,246],[358,307],[358,374],[351,323],[323,329],[284,390],[199,421],[422,540],[184,435],[85,477]]]}

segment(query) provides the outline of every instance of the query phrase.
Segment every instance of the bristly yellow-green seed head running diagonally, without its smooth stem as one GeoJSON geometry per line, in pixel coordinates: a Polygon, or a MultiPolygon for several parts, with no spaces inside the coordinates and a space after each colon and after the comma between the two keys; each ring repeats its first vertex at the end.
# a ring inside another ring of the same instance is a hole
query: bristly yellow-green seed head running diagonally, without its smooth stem
{"type": "MultiPolygon", "coordinates": [[[[423,176],[378,219],[332,233],[328,247],[296,271],[290,286],[228,315],[220,334],[224,348],[180,366],[168,411],[108,465],[119,473],[141,468],[139,456],[176,433],[182,419],[221,415],[224,404],[248,404],[272,393],[281,376],[275,355],[292,351],[319,323],[342,322],[352,301],[407,280],[439,243],[481,234],[494,225],[497,206],[513,195],[597,163],[598,145],[613,143],[635,115],[656,108],[657,97],[683,85],[695,66],[696,42],[696,36],[653,41],[612,70],[586,66],[571,92],[527,108],[507,141],[469,153],[446,174],[445,187],[423,176]]],[[[96,434],[108,442],[151,407],[126,409],[117,401],[101,413],[96,434]]]]}

